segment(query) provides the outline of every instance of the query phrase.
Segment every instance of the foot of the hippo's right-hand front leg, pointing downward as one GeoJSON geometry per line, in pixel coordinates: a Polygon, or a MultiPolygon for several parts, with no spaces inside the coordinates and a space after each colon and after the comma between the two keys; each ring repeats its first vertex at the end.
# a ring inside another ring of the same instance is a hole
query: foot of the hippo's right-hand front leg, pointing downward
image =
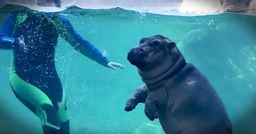
{"type": "Polygon", "coordinates": [[[152,103],[145,104],[144,112],[146,116],[152,121],[158,118],[157,107],[152,103]]]}

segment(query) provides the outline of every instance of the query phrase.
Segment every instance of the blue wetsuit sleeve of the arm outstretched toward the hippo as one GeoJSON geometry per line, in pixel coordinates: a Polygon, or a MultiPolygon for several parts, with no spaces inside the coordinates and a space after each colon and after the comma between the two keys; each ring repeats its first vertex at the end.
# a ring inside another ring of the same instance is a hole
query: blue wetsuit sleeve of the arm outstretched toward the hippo
{"type": "Polygon", "coordinates": [[[58,16],[58,32],[61,36],[70,43],[78,52],[82,53],[86,57],[98,62],[100,65],[106,66],[110,61],[98,51],[94,45],[86,41],[78,33],[75,32],[70,22],[63,16],[58,16]]]}

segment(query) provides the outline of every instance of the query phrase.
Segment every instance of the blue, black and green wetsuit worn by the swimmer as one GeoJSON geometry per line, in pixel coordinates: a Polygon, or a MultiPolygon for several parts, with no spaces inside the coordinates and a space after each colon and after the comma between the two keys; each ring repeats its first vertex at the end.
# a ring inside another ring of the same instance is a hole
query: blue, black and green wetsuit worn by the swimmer
{"type": "Polygon", "coordinates": [[[10,14],[0,30],[0,49],[13,49],[10,85],[15,96],[42,122],[44,133],[70,132],[54,53],[61,35],[80,53],[106,66],[108,60],[58,14],[10,14]],[[27,51],[18,44],[23,35],[27,51]]]}

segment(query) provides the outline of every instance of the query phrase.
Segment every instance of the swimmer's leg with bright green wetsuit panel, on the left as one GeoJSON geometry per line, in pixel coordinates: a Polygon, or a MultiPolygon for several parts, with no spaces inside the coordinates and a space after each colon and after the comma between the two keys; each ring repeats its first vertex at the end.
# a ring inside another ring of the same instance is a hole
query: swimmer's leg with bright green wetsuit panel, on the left
{"type": "Polygon", "coordinates": [[[57,108],[54,108],[49,97],[34,85],[23,81],[16,73],[11,73],[10,84],[18,100],[40,118],[43,132],[57,134],[59,132],[57,108]]]}

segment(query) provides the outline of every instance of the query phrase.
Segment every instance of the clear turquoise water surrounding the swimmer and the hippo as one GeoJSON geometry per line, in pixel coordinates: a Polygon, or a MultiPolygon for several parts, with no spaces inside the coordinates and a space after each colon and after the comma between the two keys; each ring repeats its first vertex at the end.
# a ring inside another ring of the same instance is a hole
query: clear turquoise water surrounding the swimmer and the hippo
{"type": "MultiPolygon", "coordinates": [[[[0,20],[6,14],[0,14],[0,20]]],[[[182,17],[127,10],[80,10],[66,14],[74,29],[110,61],[106,69],[76,52],[61,37],[56,66],[66,90],[74,134],[163,134],[143,104],[124,112],[126,99],[142,81],[126,60],[142,37],[162,34],[178,44],[186,61],[211,81],[230,115],[235,134],[256,133],[256,17],[215,14],[182,17]],[[76,14],[79,13],[79,14],[76,14]]],[[[2,21],[0,21],[2,23],[2,21]]],[[[10,50],[0,50],[0,126],[19,134],[42,134],[38,118],[14,97],[9,84],[10,50]]]]}

